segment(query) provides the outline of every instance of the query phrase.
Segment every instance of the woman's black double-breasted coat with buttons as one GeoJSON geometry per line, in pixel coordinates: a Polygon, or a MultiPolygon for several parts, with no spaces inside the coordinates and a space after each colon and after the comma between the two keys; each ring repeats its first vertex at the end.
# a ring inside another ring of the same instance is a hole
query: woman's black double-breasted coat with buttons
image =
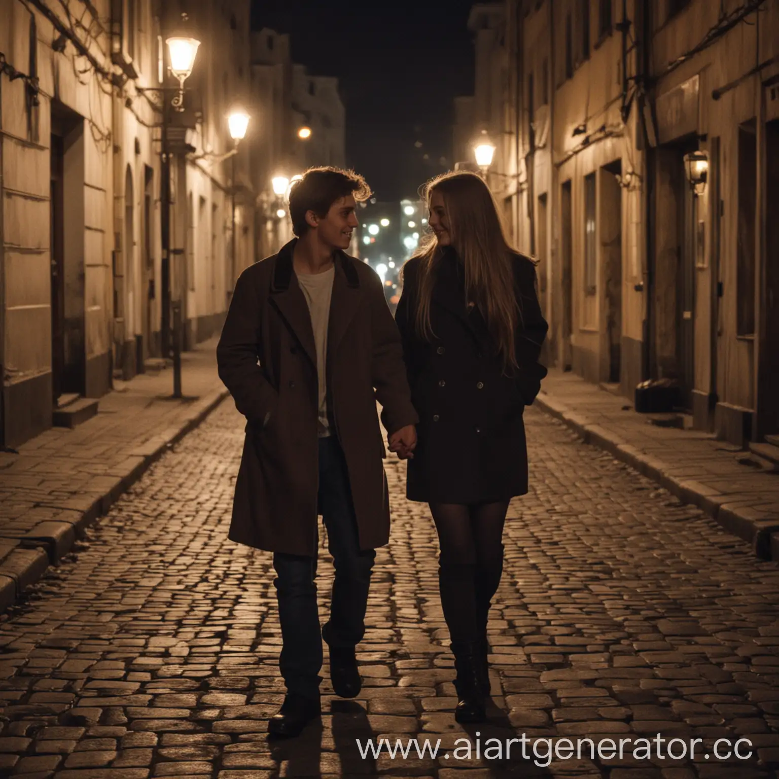
{"type": "Polygon", "coordinates": [[[435,270],[430,319],[435,337],[418,336],[415,313],[421,259],[404,266],[395,320],[403,337],[411,397],[420,421],[407,496],[425,502],[476,503],[527,492],[523,410],[541,388],[538,363],[548,330],[535,291],[535,266],[513,256],[520,306],[514,375],[502,360],[478,308],[467,308],[464,272],[453,250],[435,270]]]}

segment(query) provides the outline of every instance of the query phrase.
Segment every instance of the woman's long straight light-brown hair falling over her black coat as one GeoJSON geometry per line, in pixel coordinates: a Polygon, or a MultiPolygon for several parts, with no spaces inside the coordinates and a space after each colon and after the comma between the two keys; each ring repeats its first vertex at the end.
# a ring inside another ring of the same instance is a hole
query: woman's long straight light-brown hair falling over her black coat
{"type": "MultiPolygon", "coordinates": [[[[449,240],[465,270],[465,303],[478,306],[495,340],[504,371],[516,368],[514,333],[517,308],[512,270],[514,250],[498,214],[492,192],[474,173],[454,171],[429,181],[423,189],[428,203],[440,192],[449,222],[449,240]]],[[[414,257],[421,258],[415,325],[420,337],[430,340],[430,299],[442,248],[435,234],[429,236],[414,257]]]]}

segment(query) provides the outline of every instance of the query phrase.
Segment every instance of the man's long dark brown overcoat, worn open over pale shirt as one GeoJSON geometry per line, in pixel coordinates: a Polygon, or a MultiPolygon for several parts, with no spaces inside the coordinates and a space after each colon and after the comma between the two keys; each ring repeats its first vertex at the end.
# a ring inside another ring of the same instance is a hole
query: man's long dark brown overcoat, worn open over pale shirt
{"type": "MultiPolygon", "coordinates": [[[[319,387],[311,317],[292,266],[294,243],[241,273],[217,362],[248,420],[229,537],[271,552],[315,555],[319,387]]],[[[418,421],[382,282],[341,252],[327,333],[327,407],[346,457],[363,549],[386,544],[390,534],[376,400],[389,432],[418,421]]]]}

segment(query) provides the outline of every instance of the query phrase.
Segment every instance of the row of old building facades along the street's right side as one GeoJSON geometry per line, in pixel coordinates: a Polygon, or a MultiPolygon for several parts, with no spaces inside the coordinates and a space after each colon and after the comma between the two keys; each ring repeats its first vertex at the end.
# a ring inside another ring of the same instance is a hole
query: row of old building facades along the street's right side
{"type": "Polygon", "coordinates": [[[627,397],[667,379],[737,444],[779,432],[779,2],[507,0],[470,24],[471,137],[538,261],[548,363],[627,397]]]}

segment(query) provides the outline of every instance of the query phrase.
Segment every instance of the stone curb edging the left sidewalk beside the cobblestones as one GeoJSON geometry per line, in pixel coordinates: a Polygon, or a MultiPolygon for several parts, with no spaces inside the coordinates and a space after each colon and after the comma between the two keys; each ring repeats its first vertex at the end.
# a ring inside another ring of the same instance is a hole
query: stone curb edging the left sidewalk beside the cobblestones
{"type": "MultiPolygon", "coordinates": [[[[69,501],[38,503],[41,522],[16,539],[16,547],[0,562],[0,613],[19,601],[24,590],[41,579],[48,566],[56,565],[73,548],[85,527],[103,516],[119,496],[143,476],[147,468],[194,430],[227,397],[214,390],[192,403],[177,427],[166,428],[134,449],[128,458],[106,474],[114,481],[101,492],[77,495],[69,501]]],[[[14,543],[11,539],[0,539],[14,543]]]]}

